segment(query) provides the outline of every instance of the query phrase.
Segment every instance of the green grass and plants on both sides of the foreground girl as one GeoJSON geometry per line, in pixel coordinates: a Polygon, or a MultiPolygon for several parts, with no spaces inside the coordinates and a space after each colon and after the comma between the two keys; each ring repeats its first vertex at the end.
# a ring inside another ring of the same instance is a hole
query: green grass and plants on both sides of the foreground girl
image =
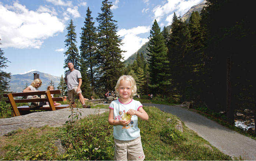
{"type": "MultiPolygon", "coordinates": [[[[108,108],[97,105],[92,108],[108,108]]],[[[149,120],[139,120],[145,160],[232,160],[189,128],[175,130],[176,116],[155,107],[143,107],[149,120]],[[168,123],[167,118],[172,121],[168,123]],[[213,151],[205,147],[210,145],[213,151]]],[[[17,130],[0,137],[1,160],[113,160],[113,126],[108,114],[91,115],[73,127],[17,130]],[[54,142],[61,139],[66,153],[57,156],[54,142]]]]}

